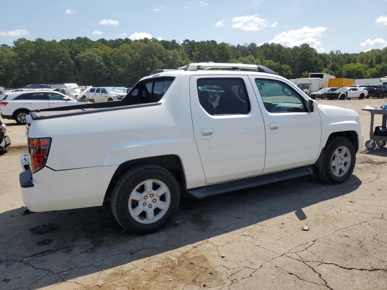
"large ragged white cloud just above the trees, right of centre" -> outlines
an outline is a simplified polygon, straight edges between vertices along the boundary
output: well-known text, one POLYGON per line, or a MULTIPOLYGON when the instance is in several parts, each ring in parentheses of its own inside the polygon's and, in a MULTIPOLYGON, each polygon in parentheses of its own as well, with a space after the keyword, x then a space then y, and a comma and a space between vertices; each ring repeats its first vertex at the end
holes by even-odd
POLYGON ((303 43, 307 43, 318 51, 322 51, 322 48, 318 48, 321 42, 316 38, 321 37, 322 33, 327 30, 327 27, 302 27, 301 29, 291 29, 284 31, 276 36, 269 43, 278 43, 283 46, 293 47, 303 43))

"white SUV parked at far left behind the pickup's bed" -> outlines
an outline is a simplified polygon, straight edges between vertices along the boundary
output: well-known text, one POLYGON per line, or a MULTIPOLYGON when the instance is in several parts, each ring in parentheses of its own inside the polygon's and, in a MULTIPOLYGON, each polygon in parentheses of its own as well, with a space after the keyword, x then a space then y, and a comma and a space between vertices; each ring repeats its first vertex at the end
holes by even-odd
POLYGON ((25 124, 26 116, 31 111, 78 104, 83 103, 49 90, 11 92, 0 102, 0 115, 4 119, 14 119, 19 124, 25 124))

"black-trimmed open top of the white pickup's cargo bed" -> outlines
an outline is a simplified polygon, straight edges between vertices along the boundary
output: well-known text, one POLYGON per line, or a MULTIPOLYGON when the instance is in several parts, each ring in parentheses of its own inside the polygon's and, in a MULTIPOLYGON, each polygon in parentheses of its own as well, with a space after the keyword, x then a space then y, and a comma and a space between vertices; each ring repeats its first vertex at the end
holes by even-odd
POLYGON ((31 116, 33 120, 41 120, 41 119, 52 119, 52 118, 60 118, 60 117, 66 117, 66 116, 75 116, 75 115, 82 115, 82 114, 115 111, 115 110, 122 110, 122 109, 132 109, 137 107, 158 106, 158 105, 161 105, 161 103, 128 105, 126 102, 122 102, 122 101, 100 102, 100 103, 81 104, 76 106, 36 110, 31 112, 31 116))

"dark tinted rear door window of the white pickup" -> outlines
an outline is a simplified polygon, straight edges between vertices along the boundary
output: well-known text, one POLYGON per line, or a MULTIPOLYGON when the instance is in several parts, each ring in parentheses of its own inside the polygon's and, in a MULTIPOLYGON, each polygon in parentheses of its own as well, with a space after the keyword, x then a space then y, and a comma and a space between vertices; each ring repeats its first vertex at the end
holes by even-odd
POLYGON ((197 80, 200 105, 211 115, 250 112, 246 88, 240 78, 202 78, 197 80))

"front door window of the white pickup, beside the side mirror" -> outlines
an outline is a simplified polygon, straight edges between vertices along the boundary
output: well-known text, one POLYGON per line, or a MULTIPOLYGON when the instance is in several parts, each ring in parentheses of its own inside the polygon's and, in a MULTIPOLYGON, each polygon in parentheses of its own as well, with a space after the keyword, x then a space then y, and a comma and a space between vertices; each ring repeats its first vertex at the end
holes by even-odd
POLYGON ((287 84, 260 78, 255 79, 255 84, 269 113, 306 112, 303 98, 287 84))

